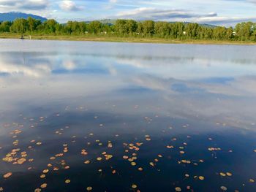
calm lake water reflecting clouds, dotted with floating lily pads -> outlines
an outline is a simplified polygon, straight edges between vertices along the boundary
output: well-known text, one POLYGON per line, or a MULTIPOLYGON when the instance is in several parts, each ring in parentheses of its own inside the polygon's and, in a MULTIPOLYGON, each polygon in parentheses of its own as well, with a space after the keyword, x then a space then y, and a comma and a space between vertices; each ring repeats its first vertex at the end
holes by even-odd
POLYGON ((0 191, 256 191, 255 53, 1 40, 0 191))

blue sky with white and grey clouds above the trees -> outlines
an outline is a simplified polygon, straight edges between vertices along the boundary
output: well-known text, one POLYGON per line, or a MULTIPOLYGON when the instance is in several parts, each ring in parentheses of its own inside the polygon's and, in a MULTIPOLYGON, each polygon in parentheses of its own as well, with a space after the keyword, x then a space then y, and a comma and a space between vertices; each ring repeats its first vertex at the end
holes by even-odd
POLYGON ((234 26, 256 22, 256 0, 0 0, 0 12, 67 20, 135 19, 234 26))

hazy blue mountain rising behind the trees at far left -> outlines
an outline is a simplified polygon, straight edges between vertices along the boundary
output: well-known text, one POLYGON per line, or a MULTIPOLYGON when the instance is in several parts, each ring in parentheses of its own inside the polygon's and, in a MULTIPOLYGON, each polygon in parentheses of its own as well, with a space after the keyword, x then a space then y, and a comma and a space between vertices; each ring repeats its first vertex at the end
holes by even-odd
POLYGON ((47 18, 42 18, 38 15, 32 15, 32 14, 26 14, 23 12, 4 12, 4 13, 0 13, 0 21, 5 21, 5 20, 10 20, 13 21, 17 18, 34 18, 37 20, 41 20, 42 22, 44 22, 45 20, 47 20, 47 18))

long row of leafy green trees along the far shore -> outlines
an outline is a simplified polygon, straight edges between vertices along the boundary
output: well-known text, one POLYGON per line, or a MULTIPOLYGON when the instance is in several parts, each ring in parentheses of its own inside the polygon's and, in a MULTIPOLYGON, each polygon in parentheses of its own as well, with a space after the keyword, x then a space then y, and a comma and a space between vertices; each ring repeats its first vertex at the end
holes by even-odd
POLYGON ((18 34, 54 34, 54 35, 108 35, 111 37, 158 37, 169 39, 211 39, 256 41, 256 23, 238 23, 235 28, 223 26, 204 26, 197 23, 167 23, 145 20, 116 20, 114 25, 92 22, 69 21, 65 24, 56 20, 42 23, 34 18, 19 18, 13 22, 0 24, 0 32, 18 34))

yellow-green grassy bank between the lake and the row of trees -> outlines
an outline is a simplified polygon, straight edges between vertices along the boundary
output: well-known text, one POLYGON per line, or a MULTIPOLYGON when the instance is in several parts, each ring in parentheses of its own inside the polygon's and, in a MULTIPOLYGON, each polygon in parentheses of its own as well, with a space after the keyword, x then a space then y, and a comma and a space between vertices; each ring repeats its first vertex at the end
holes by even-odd
MULTIPOLYGON (((20 39, 20 34, 0 34, 0 39, 20 39)), ((24 39, 30 39, 29 35, 24 35, 24 39)), ((68 35, 31 35, 31 39, 44 40, 67 40, 67 41, 93 41, 93 42, 141 42, 141 43, 165 43, 165 44, 200 44, 200 45, 256 45, 256 42, 244 41, 217 41, 217 40, 177 40, 161 39, 157 37, 107 37, 99 36, 68 36, 68 35)))

